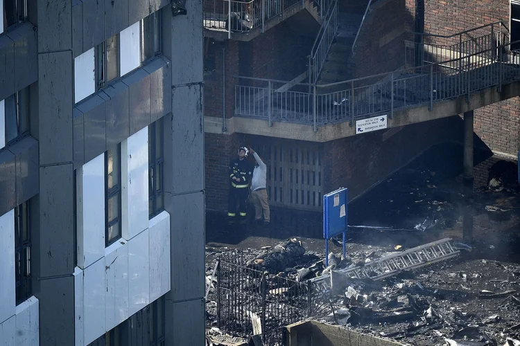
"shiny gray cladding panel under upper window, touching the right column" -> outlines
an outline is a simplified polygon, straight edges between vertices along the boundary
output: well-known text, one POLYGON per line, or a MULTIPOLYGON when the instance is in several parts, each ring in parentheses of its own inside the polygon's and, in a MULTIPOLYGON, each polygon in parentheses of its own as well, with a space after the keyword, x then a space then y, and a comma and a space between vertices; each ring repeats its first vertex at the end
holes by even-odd
POLYGON ((145 68, 150 73, 150 122, 171 112, 171 63, 160 58, 145 68))

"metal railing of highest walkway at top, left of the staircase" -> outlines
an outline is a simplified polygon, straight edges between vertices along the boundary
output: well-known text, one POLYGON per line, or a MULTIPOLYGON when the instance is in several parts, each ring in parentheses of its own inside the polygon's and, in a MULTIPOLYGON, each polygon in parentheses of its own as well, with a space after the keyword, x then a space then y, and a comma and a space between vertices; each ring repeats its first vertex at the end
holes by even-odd
POLYGON ((302 0, 204 0, 203 25, 225 31, 229 38, 232 32, 245 33, 259 27, 263 32, 266 21, 292 6, 303 5, 302 0))

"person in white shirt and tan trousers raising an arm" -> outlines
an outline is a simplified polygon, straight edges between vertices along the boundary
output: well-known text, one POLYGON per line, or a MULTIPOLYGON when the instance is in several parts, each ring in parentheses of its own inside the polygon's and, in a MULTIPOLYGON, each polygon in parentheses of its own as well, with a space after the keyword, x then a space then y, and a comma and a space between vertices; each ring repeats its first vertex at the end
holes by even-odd
POLYGON ((249 152, 253 154, 257 164, 254 166, 253 177, 251 179, 251 199, 254 204, 254 221, 261 223, 263 211, 263 224, 268 226, 271 223, 270 210, 267 198, 266 180, 267 180, 267 166, 261 160, 260 156, 253 149, 248 148, 249 152))

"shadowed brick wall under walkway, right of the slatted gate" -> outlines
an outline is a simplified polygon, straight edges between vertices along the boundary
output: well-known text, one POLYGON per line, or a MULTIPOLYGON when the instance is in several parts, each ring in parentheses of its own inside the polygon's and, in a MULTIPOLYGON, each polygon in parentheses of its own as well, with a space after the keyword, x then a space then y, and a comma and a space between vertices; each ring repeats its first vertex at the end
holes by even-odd
POLYGON ((462 119, 457 116, 325 143, 324 188, 347 186, 353 199, 428 147, 447 140, 462 140, 462 119))

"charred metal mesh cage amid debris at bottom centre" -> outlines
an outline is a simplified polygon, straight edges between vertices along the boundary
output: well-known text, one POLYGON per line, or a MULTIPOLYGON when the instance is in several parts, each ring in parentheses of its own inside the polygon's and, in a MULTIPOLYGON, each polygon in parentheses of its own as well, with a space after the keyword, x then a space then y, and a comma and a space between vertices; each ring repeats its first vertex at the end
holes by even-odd
POLYGON ((250 268, 243 251, 220 254, 216 268, 217 326, 228 334, 282 345, 284 327, 315 311, 314 284, 250 268))

